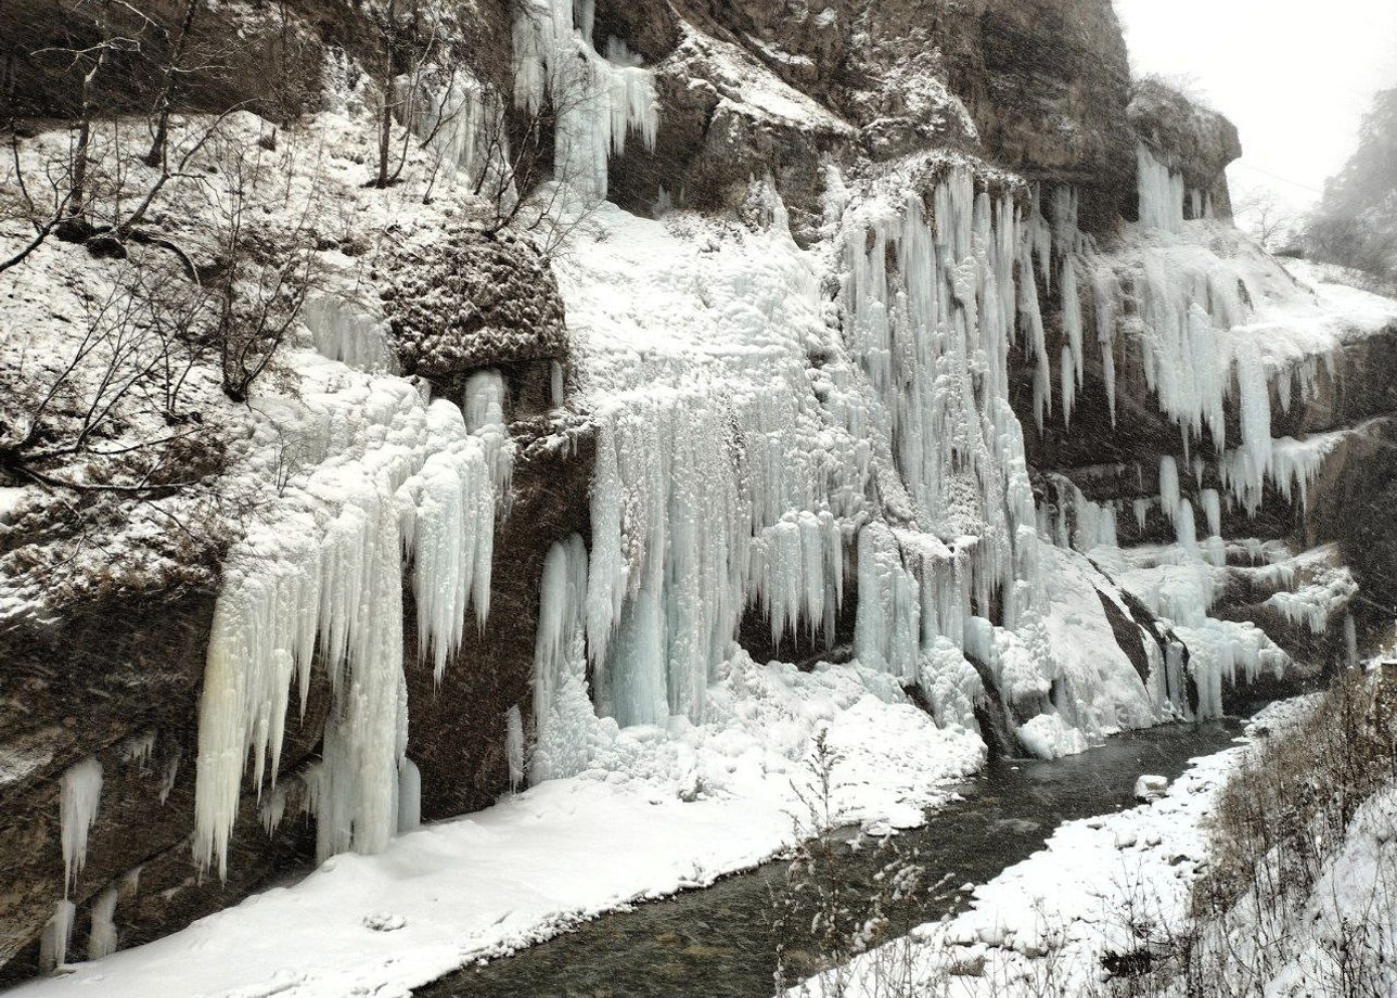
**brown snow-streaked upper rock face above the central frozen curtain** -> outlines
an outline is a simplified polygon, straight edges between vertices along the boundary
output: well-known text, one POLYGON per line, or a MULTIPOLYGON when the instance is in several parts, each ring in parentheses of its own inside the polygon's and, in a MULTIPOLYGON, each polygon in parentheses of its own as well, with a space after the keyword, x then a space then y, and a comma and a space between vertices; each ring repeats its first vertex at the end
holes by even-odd
MULTIPOLYGON (((803 219, 819 217, 821 158, 923 148, 978 152, 1028 179, 1077 185, 1091 231, 1133 193, 1129 68, 1109 3, 819 7, 685 4, 686 20, 708 34, 682 29, 673 48, 654 52, 662 152, 622 164, 617 200, 652 203, 664 185, 679 205, 732 208, 750 176, 770 173, 799 238, 803 219)), ((613 24, 606 8, 598 36, 613 24)), ((652 38, 673 36, 669 22, 658 10, 645 18, 652 38)))

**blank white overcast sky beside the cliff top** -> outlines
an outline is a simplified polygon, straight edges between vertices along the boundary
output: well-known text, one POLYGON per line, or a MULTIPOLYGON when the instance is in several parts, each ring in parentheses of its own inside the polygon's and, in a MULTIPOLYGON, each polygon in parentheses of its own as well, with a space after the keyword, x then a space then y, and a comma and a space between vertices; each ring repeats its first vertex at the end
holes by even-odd
POLYGON ((1397 0, 1115 0, 1136 73, 1186 77, 1242 133, 1235 187, 1298 205, 1397 85, 1397 0), (1280 179, 1282 178, 1282 179, 1280 179))

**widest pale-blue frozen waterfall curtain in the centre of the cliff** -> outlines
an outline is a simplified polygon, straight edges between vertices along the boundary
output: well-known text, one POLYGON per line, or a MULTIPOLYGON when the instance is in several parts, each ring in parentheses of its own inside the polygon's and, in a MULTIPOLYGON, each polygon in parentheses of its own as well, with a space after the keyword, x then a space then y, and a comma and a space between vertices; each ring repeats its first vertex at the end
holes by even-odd
MULTIPOLYGON (((1074 203, 1056 200, 1074 245, 1074 203)), ((921 685, 943 724, 972 728, 985 696, 1037 703, 1062 731, 1039 723, 1031 744, 1065 751, 1158 716, 1123 656, 1063 651, 1071 628, 1104 628, 1104 618, 1044 598, 1007 397, 1020 327, 1042 341, 1037 292, 1020 287, 1034 281, 1037 252, 1021 212, 964 165, 925 197, 895 182, 851 196, 833 214, 842 229, 835 326, 819 292, 827 264, 792 243, 770 187, 766 228, 712 264, 690 256, 682 233, 701 225, 693 217, 645 222, 604 208, 601 225, 616 235, 597 253, 576 247, 562 281, 570 316, 594 331, 598 456, 592 549, 555 548, 545 569, 535 780, 560 755, 585 758, 598 737, 578 696, 570 721, 545 721, 564 682, 583 688, 580 646, 602 720, 703 723, 749 608, 773 640, 828 642, 845 587, 859 595, 861 667, 921 685), (634 256, 612 260, 623 245, 634 256), (664 316, 665 338, 650 333, 651 316, 664 316), (979 616, 990 612, 995 623, 979 616), (1073 623, 1045 626, 1045 614, 1073 623), (560 635, 576 626, 585 640, 574 636, 569 658, 560 635), (571 742, 555 737, 564 728, 571 742)), ((1105 520, 1101 531, 1112 533, 1105 520)), ((1067 558, 1051 570, 1076 572, 1067 558)), ((1073 591, 1097 605, 1090 583, 1073 591)))

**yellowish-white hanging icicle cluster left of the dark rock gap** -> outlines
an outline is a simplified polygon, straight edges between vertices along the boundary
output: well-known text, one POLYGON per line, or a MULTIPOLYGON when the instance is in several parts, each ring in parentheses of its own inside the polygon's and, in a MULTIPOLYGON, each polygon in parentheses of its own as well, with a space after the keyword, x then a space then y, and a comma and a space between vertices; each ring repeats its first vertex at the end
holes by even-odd
POLYGON ((334 695, 313 786, 317 851, 376 851, 397 830, 405 552, 419 649, 437 675, 468 605, 478 621, 489 608, 495 489, 460 408, 425 405, 398 379, 346 387, 309 355, 300 369, 303 401, 267 400, 260 432, 319 463, 231 554, 208 646, 194 855, 221 875, 247 758, 254 784, 275 786, 291 688, 305 710, 316 657, 334 695))

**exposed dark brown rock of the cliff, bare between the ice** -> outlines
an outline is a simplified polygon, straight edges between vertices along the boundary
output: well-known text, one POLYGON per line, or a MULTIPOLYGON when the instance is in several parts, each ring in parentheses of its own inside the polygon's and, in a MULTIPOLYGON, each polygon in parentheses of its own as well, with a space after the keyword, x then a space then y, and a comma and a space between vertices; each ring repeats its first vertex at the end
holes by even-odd
MULTIPOLYGON (((175 7, 166 0, 152 11, 173 24, 175 7)), ((13 38, 21 49, 38 50, 64 24, 61 10, 47 0, 15 0, 0 13, 0 31, 22 24, 13 38)), ((362 6, 293 0, 277 17, 236 22, 231 11, 221 6, 198 27, 210 42, 240 39, 239 57, 221 75, 191 84, 210 106, 232 95, 291 119, 330 102, 346 82, 330 78, 332 67, 362 75, 374 59, 376 28, 362 6), (264 66, 279 74, 274 91, 260 74, 264 66)), ((478 75, 507 77, 503 1, 460 6, 448 34, 454 52, 493 53, 474 59, 478 75)), ((610 197, 637 214, 672 203, 746 219, 766 210, 753 201, 753 182, 770 176, 793 235, 810 245, 826 224, 827 198, 838 194, 828 166, 858 175, 909 152, 954 151, 1045 191, 1074 186, 1081 229, 1105 242, 1122 217, 1136 212, 1137 140, 1190 187, 1211 191, 1215 211, 1227 212, 1222 169, 1239 154, 1235 129, 1157 84, 1132 89, 1109 0, 598 0, 592 36, 602 50, 608 38, 624 41, 655 74, 655 150, 631 143, 612 159, 610 197)), ((112 80, 119 78, 113 70, 112 80)), ((24 113, 71 113, 71 89, 43 66, 25 63, 21 80, 24 113)), ((133 78, 129 85, 131 106, 145 106, 151 82, 133 78)), ((918 169, 935 172, 932 165, 918 169)), ((1027 207, 1027 194, 1020 200, 1027 207)), ((411 587, 405 590, 407 755, 422 773, 423 816, 443 818, 490 804, 518 779, 507 716, 520 709, 531 718, 545 555, 571 534, 590 537, 597 428, 580 411, 562 299, 534 245, 464 225, 430 236, 390 240, 372 264, 397 361, 432 394, 454 401, 464 398, 472 375, 499 372, 513 446, 510 499, 496 524, 492 612, 483 629, 467 628, 440 684, 419 654, 416 608, 411 587)), ((1220 252, 1249 250, 1238 240, 1220 252)), ((1060 295, 1060 288, 1045 288, 1045 316, 1059 314, 1060 295)), ((1090 305, 1085 314, 1092 327, 1090 305)), ((1069 331, 1052 317, 1046 340, 1052 356, 1070 345, 1069 331)), ((1296 496, 1271 489, 1260 517, 1229 510, 1224 519, 1228 535, 1285 538, 1298 549, 1337 544, 1343 562, 1384 605, 1397 604, 1397 541, 1387 526, 1397 502, 1393 358, 1397 328, 1344 345, 1333 369, 1317 376, 1316 391, 1295 405, 1274 400, 1275 437, 1351 431, 1316 479, 1308 513, 1296 496)), ((1106 401, 1106 358, 1094 337, 1083 366, 1070 431, 1049 421, 1044 432, 1028 433, 1039 502, 1053 502, 1060 481, 1097 502, 1129 506, 1157 496, 1160 458, 1186 467, 1192 451, 1151 398, 1139 342, 1112 355, 1115 411, 1106 401)), ((1034 376, 1021 344, 1010 358, 1010 377, 1025 428, 1035 422, 1034 376)), ((1231 440, 1239 421, 1229 403, 1231 440)), ((1185 493, 1196 500, 1203 488, 1222 486, 1211 458, 1201 481, 1185 478, 1185 493)), ((1123 540, 1140 542, 1169 540, 1173 530, 1160 510, 1139 528, 1126 520, 1120 526, 1123 540)), ((775 647, 754 612, 743 619, 742 646, 754 657, 847 653, 856 612, 856 593, 847 586, 833 647, 813 637, 775 647)), ((1236 587, 1224 612, 1264 622, 1296 657, 1343 656, 1343 636, 1308 635, 1263 605, 1271 594, 1236 587)), ((1097 595, 1122 650, 1148 677, 1164 654, 1165 628, 1139 601, 1097 595)), ((0 895, 0 963, 10 977, 38 967, 38 936, 56 899, 68 897, 85 916, 99 895, 117 892, 119 935, 131 945, 310 862, 313 833, 300 818, 306 784, 293 777, 321 748, 330 699, 323 667, 313 674, 303 717, 288 727, 285 793, 258 800, 251 779, 244 780, 229 879, 201 879, 193 865, 196 718, 215 598, 212 583, 123 593, 73 607, 59 621, 0 629, 0 876, 10 885, 0 895), (66 883, 56 846, 61 781, 88 759, 102 767, 101 805, 85 865, 66 883)), ((1376 623, 1379 611, 1366 612, 1376 623)), ((993 737, 1014 720, 985 716, 982 725, 993 737)), ((73 952, 85 952, 88 924, 78 918, 73 952)))

